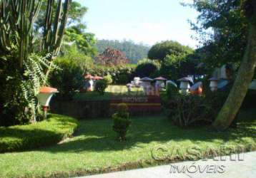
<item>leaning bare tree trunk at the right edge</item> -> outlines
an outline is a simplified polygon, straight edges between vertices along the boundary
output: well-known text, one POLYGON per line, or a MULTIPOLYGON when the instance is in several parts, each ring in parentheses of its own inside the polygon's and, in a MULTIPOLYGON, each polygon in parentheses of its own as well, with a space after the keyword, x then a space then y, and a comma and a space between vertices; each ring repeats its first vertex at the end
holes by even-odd
POLYGON ((256 25, 250 23, 247 48, 230 95, 220 110, 213 126, 225 130, 235 119, 252 81, 256 66, 256 25))

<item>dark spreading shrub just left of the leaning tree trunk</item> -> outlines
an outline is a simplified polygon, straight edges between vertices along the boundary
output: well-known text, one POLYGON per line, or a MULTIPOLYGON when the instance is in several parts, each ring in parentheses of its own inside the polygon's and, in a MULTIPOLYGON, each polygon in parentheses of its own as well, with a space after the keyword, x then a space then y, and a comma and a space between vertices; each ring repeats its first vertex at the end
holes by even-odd
POLYGON ((167 92, 162 93, 162 103, 165 114, 179 127, 195 125, 209 125, 217 116, 222 105, 232 88, 232 84, 226 90, 210 91, 209 82, 204 82, 204 94, 181 95, 173 85, 167 87, 167 92))

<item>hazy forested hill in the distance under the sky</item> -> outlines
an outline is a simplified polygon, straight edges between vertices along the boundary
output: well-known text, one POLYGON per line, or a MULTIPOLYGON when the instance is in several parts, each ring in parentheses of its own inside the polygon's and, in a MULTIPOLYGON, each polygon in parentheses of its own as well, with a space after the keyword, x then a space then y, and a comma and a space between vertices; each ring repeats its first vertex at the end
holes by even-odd
POLYGON ((139 59, 147 58, 150 46, 137 44, 133 41, 98 40, 96 43, 98 53, 103 53, 107 48, 115 48, 125 53, 130 63, 137 63, 139 59))

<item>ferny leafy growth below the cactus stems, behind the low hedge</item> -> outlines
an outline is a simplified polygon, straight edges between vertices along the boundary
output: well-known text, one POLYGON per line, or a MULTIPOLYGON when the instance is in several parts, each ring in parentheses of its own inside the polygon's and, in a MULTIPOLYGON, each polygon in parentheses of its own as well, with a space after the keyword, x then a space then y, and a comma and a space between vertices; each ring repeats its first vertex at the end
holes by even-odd
POLYGON ((19 125, 41 119, 41 108, 36 102, 36 95, 42 85, 47 85, 48 75, 45 70, 54 70, 56 66, 47 60, 31 54, 24 61, 24 71, 19 73, 9 58, 4 72, 1 73, 0 85, 1 112, 0 125, 19 125))

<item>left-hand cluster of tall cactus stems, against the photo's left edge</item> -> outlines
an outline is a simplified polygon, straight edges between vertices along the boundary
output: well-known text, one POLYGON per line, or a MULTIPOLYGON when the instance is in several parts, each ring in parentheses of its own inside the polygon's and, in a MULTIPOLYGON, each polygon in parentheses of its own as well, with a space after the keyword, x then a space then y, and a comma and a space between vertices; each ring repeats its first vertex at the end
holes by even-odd
POLYGON ((33 24, 41 9, 41 0, 0 1, 0 50, 9 54, 18 51, 20 68, 33 41, 33 24))

